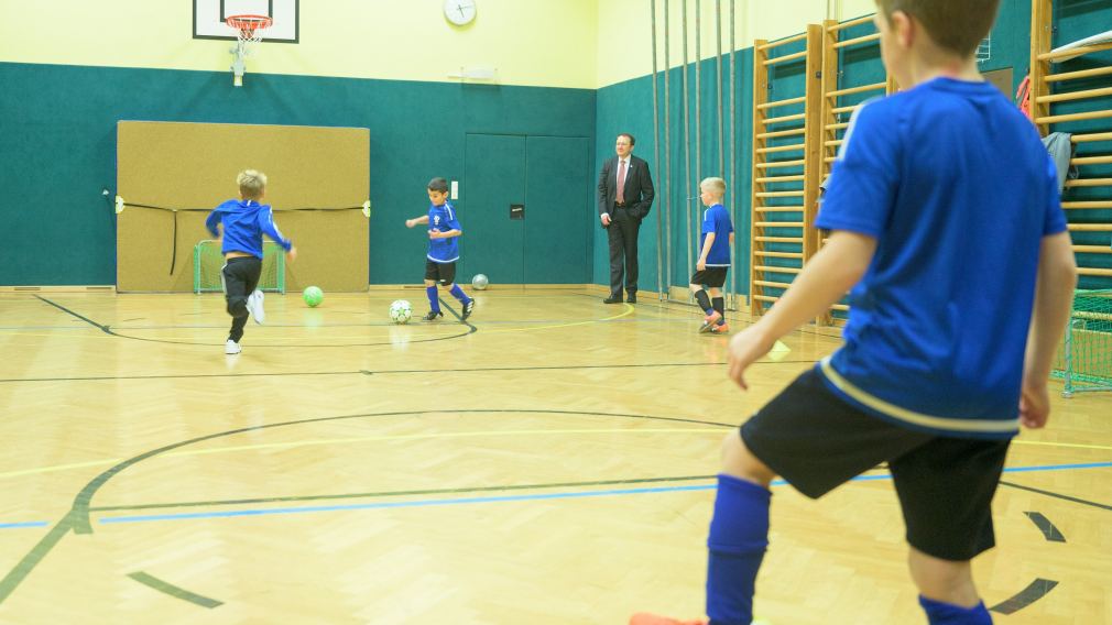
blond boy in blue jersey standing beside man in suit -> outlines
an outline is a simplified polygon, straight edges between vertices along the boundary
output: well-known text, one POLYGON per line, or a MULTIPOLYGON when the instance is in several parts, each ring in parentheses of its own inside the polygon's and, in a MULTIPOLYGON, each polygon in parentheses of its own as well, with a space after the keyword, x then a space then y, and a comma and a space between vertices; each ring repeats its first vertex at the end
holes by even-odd
POLYGON ((699 241, 698 262, 692 275, 691 289, 698 301, 699 308, 706 314, 699 333, 727 334, 725 299, 722 297, 722 286, 726 284, 726 271, 729 270, 729 246, 734 242, 734 225, 729 221, 729 212, 722 206, 726 195, 726 181, 722 178, 707 178, 699 182, 698 199, 707 207, 703 211, 703 228, 699 241), (711 289, 707 297, 703 286, 711 289))

